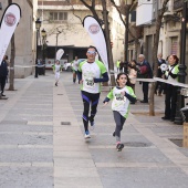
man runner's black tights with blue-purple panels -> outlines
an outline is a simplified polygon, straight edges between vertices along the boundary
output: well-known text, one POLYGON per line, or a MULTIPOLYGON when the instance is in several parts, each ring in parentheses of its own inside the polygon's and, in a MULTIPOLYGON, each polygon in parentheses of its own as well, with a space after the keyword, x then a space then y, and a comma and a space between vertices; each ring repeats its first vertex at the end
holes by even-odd
POLYGON ((88 121, 93 121, 96 115, 97 105, 100 101, 100 93, 87 93, 82 91, 81 94, 84 104, 84 112, 82 118, 86 132, 88 130, 88 121), (90 106, 91 106, 91 116, 88 117, 90 106))

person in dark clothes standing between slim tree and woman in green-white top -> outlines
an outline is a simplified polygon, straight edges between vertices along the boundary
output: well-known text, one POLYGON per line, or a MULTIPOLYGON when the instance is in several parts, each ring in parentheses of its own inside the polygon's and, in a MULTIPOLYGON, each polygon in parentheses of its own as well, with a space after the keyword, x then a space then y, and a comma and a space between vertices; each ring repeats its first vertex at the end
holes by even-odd
MULTIPOLYGON (((163 71, 161 71, 161 64, 166 64, 166 61, 163 59, 163 54, 159 53, 157 55, 158 62, 157 62, 157 77, 163 76, 163 71)), ((155 94, 157 94, 158 96, 161 96, 164 92, 164 83, 163 82, 157 82, 156 83, 156 88, 155 88, 155 94)))

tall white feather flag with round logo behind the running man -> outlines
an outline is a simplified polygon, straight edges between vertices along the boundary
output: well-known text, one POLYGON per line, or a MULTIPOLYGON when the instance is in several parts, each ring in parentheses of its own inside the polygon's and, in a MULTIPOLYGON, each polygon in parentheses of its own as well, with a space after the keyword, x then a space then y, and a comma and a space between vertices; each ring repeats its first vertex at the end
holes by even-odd
POLYGON ((87 33, 90 34, 95 48, 98 51, 98 54, 106 66, 108 72, 108 60, 107 60, 107 49, 106 49, 106 40, 103 33, 103 30, 100 23, 95 18, 87 15, 84 18, 83 25, 87 33))

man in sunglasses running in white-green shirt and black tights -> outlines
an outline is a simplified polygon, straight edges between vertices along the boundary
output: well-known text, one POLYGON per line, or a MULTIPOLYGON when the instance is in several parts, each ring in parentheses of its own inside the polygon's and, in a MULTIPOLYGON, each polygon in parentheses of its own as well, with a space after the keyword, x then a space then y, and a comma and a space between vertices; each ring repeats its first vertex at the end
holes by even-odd
POLYGON ((94 117, 97 111, 97 104, 101 93, 101 83, 108 82, 108 74, 105 65, 101 61, 95 61, 96 48, 88 46, 86 56, 87 60, 79 64, 77 77, 81 84, 81 95, 83 100, 83 124, 85 129, 85 138, 90 138, 88 122, 91 128, 94 128, 94 117), (91 105, 91 115, 90 113, 91 105))

